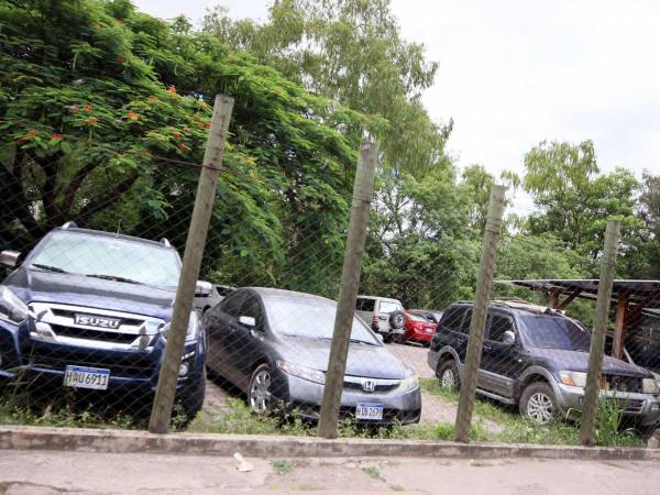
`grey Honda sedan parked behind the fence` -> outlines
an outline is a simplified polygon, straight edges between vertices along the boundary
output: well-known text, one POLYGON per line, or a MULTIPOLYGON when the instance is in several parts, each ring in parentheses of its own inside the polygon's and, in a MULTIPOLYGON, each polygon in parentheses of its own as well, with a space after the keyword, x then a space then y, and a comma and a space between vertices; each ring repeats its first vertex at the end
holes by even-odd
MULTIPOLYGON (((210 371, 248 396, 257 411, 320 413, 337 302, 275 288, 239 288, 206 312, 210 371)), ((353 318, 340 414, 367 424, 418 422, 415 374, 353 318)))

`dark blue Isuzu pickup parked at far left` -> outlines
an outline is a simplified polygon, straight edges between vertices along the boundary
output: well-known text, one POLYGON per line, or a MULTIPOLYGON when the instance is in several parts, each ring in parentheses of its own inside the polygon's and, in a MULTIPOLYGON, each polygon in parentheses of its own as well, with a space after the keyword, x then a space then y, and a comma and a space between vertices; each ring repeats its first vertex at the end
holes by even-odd
MULTIPOLYGON (((151 409, 182 266, 167 241, 69 222, 25 256, 3 251, 0 263, 11 270, 0 285, 2 382, 94 391, 128 413, 151 409)), ((177 383, 188 418, 204 403, 205 358, 193 311, 177 383)))

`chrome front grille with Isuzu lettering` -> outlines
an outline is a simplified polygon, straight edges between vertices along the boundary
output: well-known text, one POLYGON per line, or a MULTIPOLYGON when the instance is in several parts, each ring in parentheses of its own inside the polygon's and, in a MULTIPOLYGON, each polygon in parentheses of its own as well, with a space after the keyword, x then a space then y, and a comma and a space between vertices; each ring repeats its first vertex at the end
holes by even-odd
POLYGON ((36 316, 32 340, 87 349, 151 350, 165 324, 158 318, 80 306, 31 302, 30 308, 36 316))

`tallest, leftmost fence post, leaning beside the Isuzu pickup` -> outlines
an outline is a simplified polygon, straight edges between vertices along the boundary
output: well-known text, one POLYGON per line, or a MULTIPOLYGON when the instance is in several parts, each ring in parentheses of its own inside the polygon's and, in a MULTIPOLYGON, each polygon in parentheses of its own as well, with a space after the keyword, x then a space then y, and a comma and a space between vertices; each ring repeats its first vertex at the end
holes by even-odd
POLYGON ((179 277, 176 299, 172 315, 167 345, 161 364, 156 397, 152 408, 148 431, 152 433, 166 433, 172 419, 172 407, 176 396, 176 383, 182 363, 182 354, 186 340, 186 332, 193 310, 195 286, 199 277, 201 256, 206 244, 207 231, 216 199, 216 185, 218 173, 222 165, 224 143, 229 132, 229 121, 233 108, 233 99, 217 95, 211 117, 211 129, 207 140, 204 164, 199 174, 195 208, 188 229, 186 252, 179 277))

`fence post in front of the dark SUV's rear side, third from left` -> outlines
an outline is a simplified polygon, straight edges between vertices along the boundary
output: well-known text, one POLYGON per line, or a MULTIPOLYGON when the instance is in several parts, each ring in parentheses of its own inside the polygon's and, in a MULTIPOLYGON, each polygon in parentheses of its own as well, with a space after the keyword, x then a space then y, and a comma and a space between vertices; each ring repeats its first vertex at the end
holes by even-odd
POLYGON ((466 443, 470 437, 476 378, 481 365, 484 332, 488 316, 488 301, 493 287, 493 276, 495 274, 497 241, 502 228, 502 216, 504 215, 505 193, 506 187, 501 185, 494 185, 491 190, 488 218, 486 219, 476 292, 474 294, 474 309, 470 322, 470 340, 465 355, 465 367, 461 377, 461 395, 454 429, 454 440, 458 442, 466 443))

